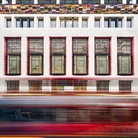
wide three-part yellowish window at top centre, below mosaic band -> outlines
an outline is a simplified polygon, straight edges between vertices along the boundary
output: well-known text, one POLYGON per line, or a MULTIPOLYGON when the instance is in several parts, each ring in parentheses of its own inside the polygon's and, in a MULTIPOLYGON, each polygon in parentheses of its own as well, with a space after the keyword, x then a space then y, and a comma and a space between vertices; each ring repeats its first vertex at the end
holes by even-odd
POLYGON ((75 17, 60 18, 60 27, 61 28, 77 28, 78 18, 75 18, 75 17))

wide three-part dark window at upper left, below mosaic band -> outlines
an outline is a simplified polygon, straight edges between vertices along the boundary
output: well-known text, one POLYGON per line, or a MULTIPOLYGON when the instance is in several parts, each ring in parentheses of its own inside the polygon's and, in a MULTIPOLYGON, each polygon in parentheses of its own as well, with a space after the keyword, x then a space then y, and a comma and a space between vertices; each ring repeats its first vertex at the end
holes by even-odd
POLYGON ((34 18, 16 18, 16 27, 17 28, 33 28, 34 27, 34 18))

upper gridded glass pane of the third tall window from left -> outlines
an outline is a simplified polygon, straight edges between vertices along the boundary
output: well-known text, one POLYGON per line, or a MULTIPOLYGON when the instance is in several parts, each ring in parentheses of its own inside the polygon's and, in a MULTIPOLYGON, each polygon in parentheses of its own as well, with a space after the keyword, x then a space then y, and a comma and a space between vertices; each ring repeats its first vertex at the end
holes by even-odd
POLYGON ((51 38, 51 52, 52 54, 65 53, 65 39, 64 38, 51 38))

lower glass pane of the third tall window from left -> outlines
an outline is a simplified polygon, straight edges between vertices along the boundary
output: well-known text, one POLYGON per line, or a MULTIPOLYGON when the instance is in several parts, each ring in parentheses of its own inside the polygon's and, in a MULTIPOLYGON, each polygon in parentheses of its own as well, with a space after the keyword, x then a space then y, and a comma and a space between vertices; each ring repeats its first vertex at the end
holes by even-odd
POLYGON ((52 55, 52 74, 64 74, 64 56, 52 55))

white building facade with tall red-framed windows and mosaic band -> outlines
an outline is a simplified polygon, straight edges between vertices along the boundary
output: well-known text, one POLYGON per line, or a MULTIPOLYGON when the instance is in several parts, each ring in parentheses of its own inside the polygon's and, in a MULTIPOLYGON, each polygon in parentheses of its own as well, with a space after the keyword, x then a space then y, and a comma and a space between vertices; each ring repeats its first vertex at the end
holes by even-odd
POLYGON ((0 92, 137 93, 138 1, 1 1, 0 92))

